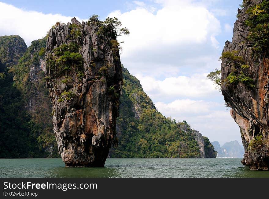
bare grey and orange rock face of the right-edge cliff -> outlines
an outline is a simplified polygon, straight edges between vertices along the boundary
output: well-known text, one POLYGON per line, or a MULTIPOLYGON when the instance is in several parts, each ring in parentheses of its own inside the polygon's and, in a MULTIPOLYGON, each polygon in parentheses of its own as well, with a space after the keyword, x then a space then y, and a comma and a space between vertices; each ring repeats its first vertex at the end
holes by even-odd
MULTIPOLYGON (((268 170, 269 168, 269 140, 268 140, 268 86, 269 86, 269 59, 260 56, 252 56, 252 44, 247 40, 249 27, 244 25, 248 15, 246 9, 261 0, 244 2, 244 9, 238 9, 238 20, 234 24, 232 42, 227 41, 223 51, 237 50, 250 66, 247 69, 249 76, 254 80, 255 87, 249 88, 243 83, 238 85, 223 84, 222 93, 224 100, 232 108, 231 116, 240 127, 242 143, 245 148, 242 164, 249 165, 252 170, 268 170), (249 147, 258 135, 261 145, 256 148, 249 147)), ((223 60, 221 65, 222 80, 232 72, 229 61, 223 60)))

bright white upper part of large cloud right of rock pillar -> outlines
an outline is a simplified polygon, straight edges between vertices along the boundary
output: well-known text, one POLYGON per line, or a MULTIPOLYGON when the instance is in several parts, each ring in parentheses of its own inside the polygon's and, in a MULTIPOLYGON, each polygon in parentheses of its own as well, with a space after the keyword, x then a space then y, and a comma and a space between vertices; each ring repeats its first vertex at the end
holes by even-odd
POLYGON ((220 23, 203 7, 164 7, 157 14, 144 8, 130 12, 114 11, 109 16, 116 16, 130 30, 129 36, 119 39, 128 45, 124 54, 129 51, 164 46, 201 44, 210 41, 219 33, 220 23))

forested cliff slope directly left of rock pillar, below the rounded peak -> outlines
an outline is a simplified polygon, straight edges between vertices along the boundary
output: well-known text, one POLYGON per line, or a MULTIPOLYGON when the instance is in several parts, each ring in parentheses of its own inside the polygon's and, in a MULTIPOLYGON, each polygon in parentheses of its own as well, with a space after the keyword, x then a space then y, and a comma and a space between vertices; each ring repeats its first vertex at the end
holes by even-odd
MULTIPOLYGON (((20 48, 21 42, 18 44, 9 43, 14 49, 20 48)), ((9 58, 12 62, 5 72, 5 79, 0 80, 0 146, 3 148, 0 157, 58 157, 51 103, 45 75, 40 68, 42 54, 39 52, 44 47, 45 38, 35 40, 25 53, 16 56, 17 62, 9 58)))

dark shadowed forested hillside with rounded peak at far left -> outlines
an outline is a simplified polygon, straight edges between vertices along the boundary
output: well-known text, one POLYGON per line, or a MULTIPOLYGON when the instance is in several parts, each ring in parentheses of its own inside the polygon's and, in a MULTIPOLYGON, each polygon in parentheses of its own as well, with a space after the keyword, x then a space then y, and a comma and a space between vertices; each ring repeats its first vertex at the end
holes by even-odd
POLYGON ((31 116, 24 97, 14 85, 12 67, 26 50, 19 36, 0 37, 0 157, 40 157, 43 150, 31 133, 31 116))

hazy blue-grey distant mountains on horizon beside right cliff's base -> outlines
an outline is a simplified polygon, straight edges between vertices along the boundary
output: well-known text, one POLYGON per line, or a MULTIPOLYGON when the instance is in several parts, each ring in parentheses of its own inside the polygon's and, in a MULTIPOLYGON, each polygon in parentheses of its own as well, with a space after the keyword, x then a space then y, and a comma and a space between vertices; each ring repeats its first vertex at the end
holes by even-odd
POLYGON ((214 141, 211 144, 218 152, 217 157, 243 158, 244 156, 244 149, 236 140, 226 142, 222 147, 220 147, 219 142, 217 141, 214 141))

